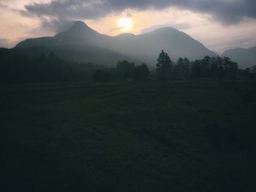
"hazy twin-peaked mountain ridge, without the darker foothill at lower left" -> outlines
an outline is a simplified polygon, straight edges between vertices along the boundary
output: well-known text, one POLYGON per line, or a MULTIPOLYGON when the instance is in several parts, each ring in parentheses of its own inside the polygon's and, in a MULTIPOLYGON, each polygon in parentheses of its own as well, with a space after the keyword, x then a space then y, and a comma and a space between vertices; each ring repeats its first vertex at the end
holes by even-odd
MULTIPOLYGON (((113 51, 125 58, 133 58, 154 66, 160 50, 165 50, 176 61, 179 57, 190 60, 203 58, 205 55, 216 56, 202 43, 184 32, 173 27, 158 28, 145 34, 119 34, 110 37, 90 28, 82 21, 76 21, 67 31, 56 34, 54 37, 40 37, 26 39, 15 48, 22 47, 53 47, 53 46, 85 45, 101 47, 113 51)), ((109 55, 111 57, 111 54, 109 55)), ((86 57, 88 58, 88 57, 86 57)), ((83 59, 82 59, 83 60, 83 59)), ((93 62, 93 61, 91 61, 93 62)), ((117 61, 113 61, 116 64, 117 61)))

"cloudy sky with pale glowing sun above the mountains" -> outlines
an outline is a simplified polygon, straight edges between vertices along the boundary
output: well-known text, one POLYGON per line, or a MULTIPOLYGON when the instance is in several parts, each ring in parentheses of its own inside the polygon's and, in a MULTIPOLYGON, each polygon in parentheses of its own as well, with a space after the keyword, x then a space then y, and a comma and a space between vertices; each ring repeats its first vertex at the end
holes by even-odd
POLYGON ((172 26, 216 53, 256 46, 255 0, 0 0, 0 47, 53 36, 73 20, 101 34, 172 26))

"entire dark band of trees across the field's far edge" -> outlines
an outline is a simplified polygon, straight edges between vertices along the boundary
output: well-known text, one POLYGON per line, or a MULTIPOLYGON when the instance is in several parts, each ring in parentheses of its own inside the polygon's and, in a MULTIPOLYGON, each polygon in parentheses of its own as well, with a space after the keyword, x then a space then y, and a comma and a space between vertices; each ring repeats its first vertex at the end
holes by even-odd
POLYGON ((230 58, 206 56, 189 61, 178 58, 175 63, 163 50, 157 58, 156 71, 150 72, 146 64, 135 65, 118 61, 115 67, 64 61, 54 53, 29 59, 16 50, 0 49, 0 82, 111 82, 143 80, 200 80, 200 79, 256 80, 256 66, 238 69, 230 58))

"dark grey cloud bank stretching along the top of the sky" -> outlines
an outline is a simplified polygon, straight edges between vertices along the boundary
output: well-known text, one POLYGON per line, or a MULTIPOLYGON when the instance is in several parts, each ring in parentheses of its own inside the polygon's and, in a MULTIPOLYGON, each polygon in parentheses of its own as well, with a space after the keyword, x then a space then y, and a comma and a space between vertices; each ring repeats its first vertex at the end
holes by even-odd
POLYGON ((164 9, 177 7, 208 13, 221 23, 238 23, 244 17, 256 18, 255 0, 53 0, 48 4, 25 6, 23 14, 69 19, 97 19, 125 9, 164 9))

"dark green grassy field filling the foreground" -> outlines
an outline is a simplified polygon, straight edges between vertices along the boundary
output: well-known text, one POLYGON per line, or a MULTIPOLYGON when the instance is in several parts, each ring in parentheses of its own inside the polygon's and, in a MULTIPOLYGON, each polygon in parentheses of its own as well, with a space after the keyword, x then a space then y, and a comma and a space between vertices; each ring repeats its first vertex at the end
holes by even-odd
POLYGON ((0 191, 255 191, 253 82, 1 85, 0 191))

